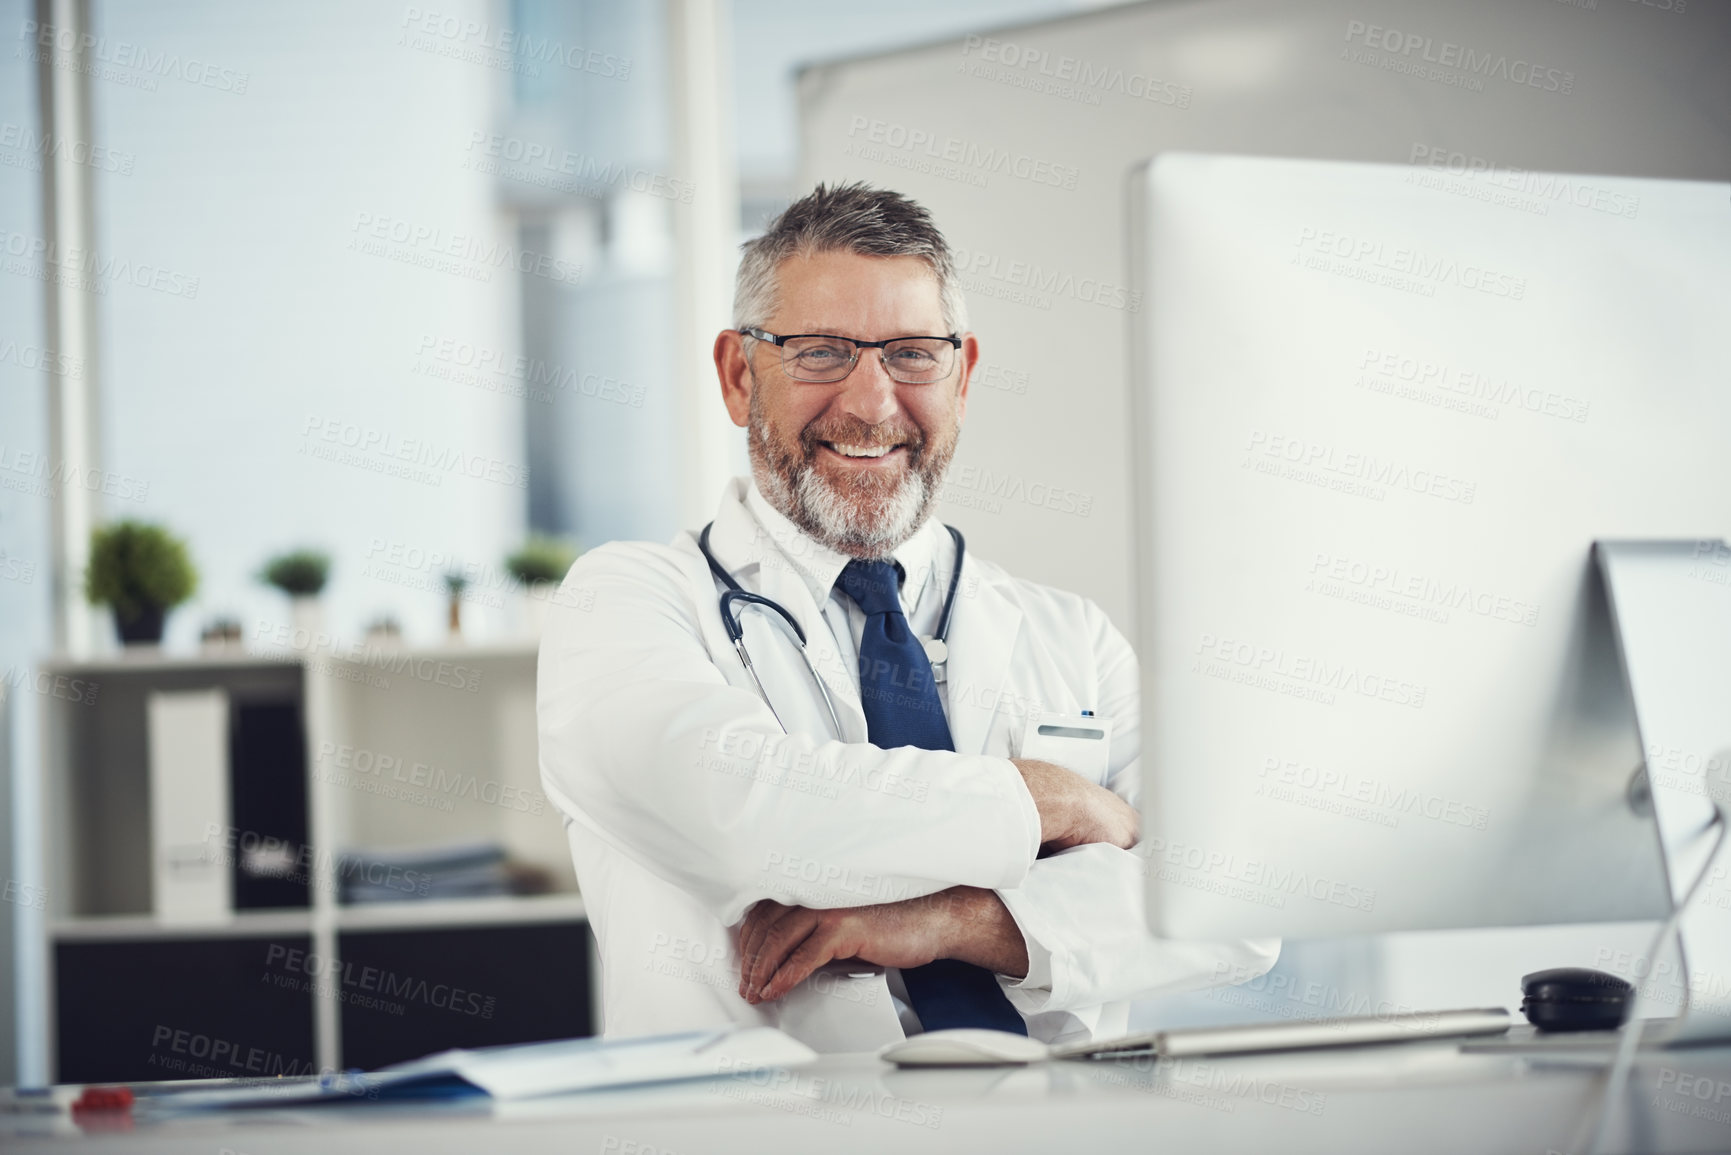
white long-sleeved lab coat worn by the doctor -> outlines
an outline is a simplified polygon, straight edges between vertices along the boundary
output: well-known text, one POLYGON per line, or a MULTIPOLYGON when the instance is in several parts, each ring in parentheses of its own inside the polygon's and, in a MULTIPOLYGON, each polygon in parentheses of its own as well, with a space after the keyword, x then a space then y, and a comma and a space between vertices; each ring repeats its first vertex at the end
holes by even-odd
MULTIPOLYGON (((840 907, 995 890, 1030 961, 1026 978, 999 982, 1044 1041, 1113 1037, 1134 997, 1274 965, 1276 940, 1151 939, 1136 852, 1096 843, 1035 857, 1039 814, 1007 760, 1030 712, 1111 719, 1103 784, 1137 795, 1136 655, 1097 606, 969 552, 949 634, 956 753, 879 750, 866 741, 852 639, 843 656, 795 561, 824 547, 760 497, 748 504, 748 485, 727 487, 710 547, 800 622, 841 739, 791 632, 750 610, 746 646, 782 734, 727 639, 691 533, 585 554, 542 637, 542 783, 566 817, 601 947, 608 1036, 763 1023, 819 1051, 904 1037, 881 973, 831 968, 777 1003, 741 999, 732 928, 758 899, 840 907)), ((933 556, 952 556, 942 526, 921 533, 938 537, 933 556)))

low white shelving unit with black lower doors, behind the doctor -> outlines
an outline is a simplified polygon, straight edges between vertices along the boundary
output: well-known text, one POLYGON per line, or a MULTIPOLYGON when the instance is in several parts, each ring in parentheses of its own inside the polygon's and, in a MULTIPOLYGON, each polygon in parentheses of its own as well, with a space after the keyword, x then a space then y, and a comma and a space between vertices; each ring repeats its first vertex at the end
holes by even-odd
MULTIPOLYGON (((61 1044, 69 1042, 59 1032, 90 1025, 78 1008, 102 997, 90 984, 111 971, 128 997, 140 1001, 140 1015, 161 1003, 161 1015, 180 1008, 175 1013, 187 1022, 177 1022, 177 1029, 237 1041, 248 1039, 254 1027, 265 1030, 263 1016, 275 1013, 272 1006, 280 1010, 293 984, 317 987, 329 984, 331 973, 348 973, 344 949, 389 954, 409 949, 405 944, 436 944, 422 947, 428 954, 412 970, 434 987, 441 970, 466 973, 469 982, 485 980, 488 990, 500 992, 531 990, 538 982, 531 971, 545 971, 549 965, 550 973, 561 973, 557 959, 493 947, 493 939, 504 942, 500 935, 542 935, 545 944, 580 944, 587 935, 564 828, 540 791, 535 661, 537 646, 530 641, 339 644, 306 653, 209 649, 185 656, 144 649, 87 661, 43 661, 43 674, 80 681, 78 694, 71 689, 42 694, 40 705, 38 774, 48 859, 42 874, 48 894, 43 949, 54 1008, 48 1027, 54 1070, 61 1044), (97 693, 88 693, 92 686, 97 693), (298 710, 306 755, 310 854, 298 859, 306 906, 239 909, 213 921, 164 921, 154 913, 147 701, 158 691, 199 689, 222 689, 234 703, 293 703, 298 710), (552 892, 341 902, 338 862, 346 852, 393 854, 474 842, 502 845, 512 862, 544 873, 552 892), (284 954, 296 942, 299 947, 284 954), (177 958, 185 959, 183 966, 173 965, 177 958), (258 970, 223 970, 232 959, 258 970), (336 970, 293 971, 312 961, 336 970), (69 970, 62 975, 64 968, 69 970), (145 982, 145 973, 154 977, 145 982), (73 985, 55 994, 62 980, 73 985), (201 984, 216 997, 196 997, 201 984)), ((232 854, 234 840, 246 831, 225 833, 232 854)), ((576 982, 583 997, 590 997, 589 951, 575 954, 566 982, 576 982)), ((448 1025, 431 1013, 424 1022, 384 1023, 343 997, 308 997, 305 990, 296 997, 303 999, 296 1006, 305 1004, 313 1020, 306 1037, 313 1048, 308 1058, 317 1067, 348 1065, 346 1055, 369 1053, 365 1048, 377 1042, 369 1034, 344 1046, 344 1030, 396 1032, 403 1037, 393 1046, 419 1046, 448 1025)), ((414 1020, 421 1011, 410 1006, 407 1013, 414 1020)), ((561 1020, 563 1029, 583 1022, 590 1022, 589 1011, 571 1008, 561 1020)), ((154 1032, 158 1020, 149 1025, 154 1032)), ((485 1034, 500 1029, 490 1020, 485 1030, 479 1023, 457 1025, 481 1030, 460 1036, 469 1042, 509 1041, 485 1034)), ((104 1048, 118 1056, 116 1063, 126 1058, 137 1065, 152 1046, 149 1034, 116 1037, 93 1051, 83 1046, 88 1039, 76 1042, 83 1055, 78 1061, 97 1065, 104 1061, 104 1048)))

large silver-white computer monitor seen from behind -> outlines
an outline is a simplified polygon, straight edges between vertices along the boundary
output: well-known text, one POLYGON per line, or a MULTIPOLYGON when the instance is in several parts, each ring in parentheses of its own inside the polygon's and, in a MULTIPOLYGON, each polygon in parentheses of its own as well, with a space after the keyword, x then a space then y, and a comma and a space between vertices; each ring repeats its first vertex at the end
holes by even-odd
MULTIPOLYGON (((1155 933, 1667 914, 1632 779, 1731 802, 1731 748, 1638 736, 1593 544, 1698 540, 1688 575, 1731 599, 1728 192, 1201 154, 1134 175, 1155 933)), ((1731 670, 1731 641, 1703 648, 1731 670)))

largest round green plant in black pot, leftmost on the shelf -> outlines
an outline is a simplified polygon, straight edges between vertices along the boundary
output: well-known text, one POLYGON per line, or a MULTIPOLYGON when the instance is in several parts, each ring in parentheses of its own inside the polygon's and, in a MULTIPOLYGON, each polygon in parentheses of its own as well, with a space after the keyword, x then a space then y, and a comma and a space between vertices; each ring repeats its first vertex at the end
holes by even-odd
POLYGON ((197 585, 185 542, 163 526, 114 521, 92 530, 85 597, 114 610, 121 642, 159 644, 168 611, 192 597, 197 585))

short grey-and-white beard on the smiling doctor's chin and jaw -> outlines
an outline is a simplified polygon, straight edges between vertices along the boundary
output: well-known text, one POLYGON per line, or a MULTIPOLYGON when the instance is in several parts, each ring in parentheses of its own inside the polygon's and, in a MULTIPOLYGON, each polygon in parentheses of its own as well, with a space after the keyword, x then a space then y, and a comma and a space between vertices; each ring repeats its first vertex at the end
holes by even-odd
POLYGON ((803 431, 803 457, 770 438, 769 419, 758 400, 762 395, 753 379, 748 436, 751 478, 777 513, 829 549, 866 561, 890 556, 926 525, 956 455, 954 440, 949 445, 926 442, 893 490, 864 494, 866 500, 860 500, 860 495, 843 494, 819 473, 812 464, 815 448, 807 445, 803 431))

